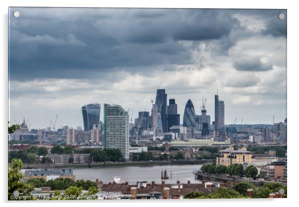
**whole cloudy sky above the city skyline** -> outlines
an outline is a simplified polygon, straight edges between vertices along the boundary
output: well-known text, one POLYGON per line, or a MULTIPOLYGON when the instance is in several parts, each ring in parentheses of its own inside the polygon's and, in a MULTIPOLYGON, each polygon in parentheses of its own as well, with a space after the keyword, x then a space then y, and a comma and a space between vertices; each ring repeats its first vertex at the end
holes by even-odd
POLYGON ((11 8, 10 120, 45 128, 59 114, 56 128, 83 127, 86 103, 120 104, 134 120, 166 89, 181 123, 188 99, 200 114, 203 98, 213 121, 217 90, 226 124, 283 121, 286 17, 259 9, 11 8))

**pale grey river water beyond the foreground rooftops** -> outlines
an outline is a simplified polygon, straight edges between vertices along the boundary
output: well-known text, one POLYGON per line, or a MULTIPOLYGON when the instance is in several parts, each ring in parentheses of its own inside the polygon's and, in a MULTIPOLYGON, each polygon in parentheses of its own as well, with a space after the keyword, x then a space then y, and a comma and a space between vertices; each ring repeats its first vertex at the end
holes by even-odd
MULTIPOLYGON (((104 184, 112 182, 114 176, 119 176, 121 182, 129 182, 129 184, 136 184, 137 181, 154 181, 157 184, 161 183, 161 170, 167 170, 167 174, 172 171, 194 171, 199 170, 202 164, 196 165, 154 165, 154 166, 115 166, 115 167, 97 167, 97 168, 84 168, 74 169, 76 180, 84 179, 95 181, 103 181, 104 184)), ((201 183, 200 180, 194 179, 194 174, 173 175, 172 179, 166 179, 165 183, 174 184, 179 180, 181 183, 201 183)))

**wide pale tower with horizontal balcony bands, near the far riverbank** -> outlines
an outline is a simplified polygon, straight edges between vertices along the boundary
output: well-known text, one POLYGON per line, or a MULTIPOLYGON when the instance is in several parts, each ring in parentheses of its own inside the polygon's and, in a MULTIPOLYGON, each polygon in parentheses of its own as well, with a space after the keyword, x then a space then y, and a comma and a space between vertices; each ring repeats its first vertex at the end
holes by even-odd
POLYGON ((129 114, 120 105, 104 104, 104 149, 119 149, 129 160, 129 114))

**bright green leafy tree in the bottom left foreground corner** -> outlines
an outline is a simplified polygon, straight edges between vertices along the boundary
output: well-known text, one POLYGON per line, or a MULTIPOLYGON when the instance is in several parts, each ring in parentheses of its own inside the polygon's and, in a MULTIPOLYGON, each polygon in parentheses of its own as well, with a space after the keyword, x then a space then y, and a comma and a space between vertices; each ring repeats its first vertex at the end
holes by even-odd
POLYGON ((20 171, 22 168, 20 159, 12 159, 8 168, 8 200, 21 200, 20 197, 14 198, 13 192, 19 192, 19 196, 23 196, 22 200, 32 200, 30 192, 34 187, 22 181, 23 175, 20 171))

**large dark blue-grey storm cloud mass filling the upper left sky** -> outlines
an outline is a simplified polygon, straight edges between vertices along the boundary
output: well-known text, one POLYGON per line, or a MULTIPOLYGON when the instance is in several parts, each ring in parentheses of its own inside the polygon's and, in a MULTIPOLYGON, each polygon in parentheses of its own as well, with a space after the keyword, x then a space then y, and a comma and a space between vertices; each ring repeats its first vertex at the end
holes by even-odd
POLYGON ((181 40, 221 40, 238 24, 229 12, 207 9, 72 11, 21 8, 20 18, 11 19, 11 79, 77 78, 78 70, 88 76, 189 64, 192 54, 181 40))

